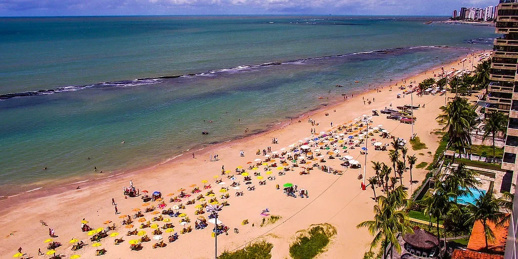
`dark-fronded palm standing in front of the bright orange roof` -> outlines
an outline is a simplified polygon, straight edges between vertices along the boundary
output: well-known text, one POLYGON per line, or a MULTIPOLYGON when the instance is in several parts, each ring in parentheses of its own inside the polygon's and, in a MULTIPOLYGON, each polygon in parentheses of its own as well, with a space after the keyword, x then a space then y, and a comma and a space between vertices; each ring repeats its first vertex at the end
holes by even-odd
POLYGON ((471 225, 476 221, 482 223, 487 250, 489 247, 487 241, 493 242, 495 240, 493 229, 487 225, 487 222, 498 224, 503 219, 504 214, 500 212, 500 201, 495 199, 492 192, 481 195, 474 202, 474 204, 468 204, 467 206, 469 218, 466 224, 471 225))

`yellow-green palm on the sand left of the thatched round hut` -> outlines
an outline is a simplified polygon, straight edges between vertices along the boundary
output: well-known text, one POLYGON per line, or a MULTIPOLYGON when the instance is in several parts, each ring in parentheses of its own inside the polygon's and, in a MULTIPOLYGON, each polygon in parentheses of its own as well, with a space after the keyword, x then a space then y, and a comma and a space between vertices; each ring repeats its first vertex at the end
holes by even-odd
POLYGON ((407 192, 401 186, 387 196, 379 196, 378 204, 374 206, 374 219, 359 223, 356 227, 367 227, 369 233, 374 236, 370 243, 370 249, 377 248, 381 244, 383 251, 382 258, 386 258, 386 248, 389 243, 394 245, 398 253, 401 252, 401 246, 397 241, 397 233, 401 235, 412 233, 412 228, 408 226, 408 215, 404 210, 407 192))

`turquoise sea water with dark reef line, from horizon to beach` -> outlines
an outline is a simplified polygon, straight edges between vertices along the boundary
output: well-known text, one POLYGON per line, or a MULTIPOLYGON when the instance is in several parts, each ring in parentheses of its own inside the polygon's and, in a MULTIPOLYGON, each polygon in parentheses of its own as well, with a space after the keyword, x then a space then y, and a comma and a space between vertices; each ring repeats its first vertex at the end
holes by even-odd
POLYGON ((0 100, 0 196, 264 131, 496 36, 429 20, 442 18, 0 18, 0 96, 54 90, 0 100))

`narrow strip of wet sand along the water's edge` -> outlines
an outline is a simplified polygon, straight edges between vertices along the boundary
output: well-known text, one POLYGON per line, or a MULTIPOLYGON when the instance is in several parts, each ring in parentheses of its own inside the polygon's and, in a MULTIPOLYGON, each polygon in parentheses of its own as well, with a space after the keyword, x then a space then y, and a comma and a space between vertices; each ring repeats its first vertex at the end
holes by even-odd
MULTIPOLYGON (((431 46, 431 47, 440 47, 440 46, 431 46)), ((415 47, 413 47, 413 48, 415 48, 415 47)), ((427 48, 429 48, 429 47, 427 47, 427 48)), ((378 50, 378 51, 381 51, 381 50, 378 50)), ((482 53, 482 51, 483 50, 481 50, 481 49, 475 49, 474 52, 472 52, 472 53, 479 54, 479 53, 482 53)), ((454 59, 453 61, 458 61, 458 59, 454 59)), ((416 74, 412 74, 412 75, 405 76, 406 73, 404 73, 401 75, 401 78, 394 79, 392 82, 386 82, 386 83, 380 84, 380 85, 377 84, 377 86, 373 86, 373 87, 369 87, 369 86, 365 85, 363 87, 363 91, 358 91, 358 90, 354 91, 353 90, 350 93, 354 94, 358 98, 363 97, 363 96, 366 96, 368 94, 375 92, 376 91, 375 89, 378 87, 389 87, 391 84, 395 84, 395 83, 399 84, 399 83, 401 83, 401 81, 408 80, 409 78, 419 76, 423 73, 428 73, 430 71, 440 69, 441 67, 444 67, 444 66, 449 66, 449 64, 451 64, 451 63, 454 63, 454 62, 449 61, 447 64, 436 65, 434 67, 428 68, 427 70, 420 71, 420 72, 418 72, 416 74)), ((354 98, 356 98, 356 97, 354 97, 354 98)), ((352 101, 352 98, 350 98, 350 97, 347 100, 342 100, 341 98, 334 97, 334 100, 329 99, 328 103, 322 104, 318 108, 313 108, 308 111, 301 112, 301 113, 297 114, 295 117, 293 117, 292 119, 298 120, 298 119, 301 119, 304 117, 313 116, 314 114, 319 113, 319 112, 330 111, 330 110, 333 110, 333 108, 335 108, 337 106, 346 105, 347 103, 349 103, 351 101, 352 101)), ((91 178, 92 176, 73 176, 73 177, 70 177, 70 179, 73 179, 73 180, 71 180, 71 181, 63 180, 62 183, 59 183, 58 185, 53 185, 53 186, 52 185, 49 186, 48 183, 44 183, 44 184, 31 183, 31 184, 28 184, 28 186, 35 185, 34 188, 31 188, 31 190, 23 191, 23 192, 16 193, 16 194, 11 194, 8 196, 7 195, 0 196, 0 205, 3 205, 3 208, 0 208, 0 215, 3 215, 5 213, 5 211, 7 211, 7 208, 16 206, 17 204, 20 204, 23 202, 27 202, 31 199, 42 198, 42 197, 74 190, 76 188, 76 184, 80 184, 81 187, 89 187, 89 186, 94 186, 98 183, 105 183, 106 181, 108 181, 107 183, 109 183, 109 181, 116 181, 116 180, 119 180, 121 177, 136 176, 138 174, 141 174, 141 173, 149 171, 149 170, 160 169, 161 166, 165 166, 165 167, 170 166, 170 164, 173 164, 176 161, 184 161, 185 157, 189 157, 189 155, 192 152, 196 152, 196 153, 200 152, 201 154, 209 154, 209 153, 211 153, 211 151, 214 151, 214 150, 218 150, 218 149, 225 148, 225 147, 232 147, 232 145, 238 145, 239 143, 246 142, 251 139, 255 139, 255 138, 264 136, 266 134, 274 133, 278 130, 282 130, 283 128, 285 128, 289 125, 291 125, 290 119, 285 119, 278 123, 272 122, 270 124, 264 125, 265 130, 262 130, 257 133, 251 133, 249 135, 244 135, 244 136, 237 136, 236 138, 227 139, 225 141, 221 141, 218 143, 208 143, 206 145, 194 146, 187 150, 182 151, 181 153, 179 153, 177 155, 173 155, 160 163, 141 165, 138 167, 131 167, 131 168, 121 168, 121 169, 114 170, 112 172, 104 172, 103 174, 105 174, 107 176, 103 176, 100 178, 91 178), (270 125, 270 126, 268 126, 268 125, 270 125), (22 196, 22 197, 20 197, 20 196, 22 196), (13 202, 13 204, 11 204, 11 202, 13 202), (6 204, 6 203, 9 203, 9 204, 6 204)), ((180 162, 178 162, 178 163, 180 163, 180 162)), ((93 174, 93 175, 96 175, 96 174, 93 174)))

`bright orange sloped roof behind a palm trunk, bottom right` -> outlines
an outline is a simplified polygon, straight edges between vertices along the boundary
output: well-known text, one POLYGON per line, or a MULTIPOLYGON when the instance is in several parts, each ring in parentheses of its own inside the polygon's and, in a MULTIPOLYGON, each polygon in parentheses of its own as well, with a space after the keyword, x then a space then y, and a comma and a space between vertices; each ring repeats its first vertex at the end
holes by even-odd
MULTIPOLYGON (((487 222, 495 234, 495 241, 488 241, 488 248, 493 252, 503 252, 506 249, 507 233, 509 232, 509 223, 503 227, 496 227, 495 224, 487 222)), ((468 249, 476 251, 485 251, 484 226, 482 222, 477 221, 473 225, 471 236, 469 237, 468 249)))

